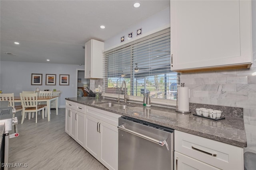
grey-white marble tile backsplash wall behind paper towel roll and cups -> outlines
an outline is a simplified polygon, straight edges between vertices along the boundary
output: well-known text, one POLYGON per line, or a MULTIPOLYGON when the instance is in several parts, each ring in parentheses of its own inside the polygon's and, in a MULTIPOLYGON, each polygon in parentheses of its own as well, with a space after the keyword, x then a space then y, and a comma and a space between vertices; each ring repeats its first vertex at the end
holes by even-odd
POLYGON ((252 52, 250 69, 181 74, 190 88, 190 102, 244 108, 247 148, 256 153, 256 0, 252 1, 252 52))

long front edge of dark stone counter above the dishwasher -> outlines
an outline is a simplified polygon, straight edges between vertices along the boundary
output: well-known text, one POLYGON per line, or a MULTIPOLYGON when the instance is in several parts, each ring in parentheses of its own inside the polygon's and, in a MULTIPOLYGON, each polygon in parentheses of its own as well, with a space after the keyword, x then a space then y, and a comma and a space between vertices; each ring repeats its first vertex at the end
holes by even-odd
MULTIPOLYGON (((112 109, 107 109, 107 108, 95 106, 95 105, 92 105, 92 104, 88 104, 86 102, 78 102, 78 101, 72 100, 70 98, 65 98, 65 100, 69 100, 71 102, 83 104, 83 105, 86 105, 86 106, 95 107, 97 109, 102 109, 102 110, 109 111, 109 112, 112 112, 112 113, 116 113, 116 114, 119 114, 119 115, 124 115, 124 116, 128 116, 128 117, 133 117, 133 118, 136 118, 136 119, 140 119, 140 120, 143 120, 143 121, 148 121, 150 123, 155 123, 155 124, 158 124, 158 125, 162 125, 162 126, 165 126, 165 127, 172 128, 174 130, 182 131, 182 132, 185 132, 185 133, 190 133, 192 135, 197 135, 197 136, 200 136, 200 137, 205 137, 207 139, 212 139, 214 141, 219 141, 219 142, 222 142, 222 143, 227 143, 229 145, 234 145, 236 147, 241 147, 241 148, 247 147, 247 142, 246 141, 244 141, 244 142, 243 141, 236 141, 236 140, 227 139, 227 138, 224 138, 224 137, 218 137, 218 136, 215 136, 215 135, 212 135, 212 134, 202 133, 200 131, 194 131, 194 130, 191 130, 191 129, 182 128, 182 127, 179 127, 179 126, 176 126, 176 125, 170 125, 170 124, 166 124, 166 123, 162 123, 162 122, 158 122, 158 121, 152 121, 150 119, 132 116, 132 115, 125 114, 125 113, 122 113, 122 112, 119 112, 119 111, 115 111, 115 110, 112 110, 112 109)), ((112 100, 110 100, 110 101, 112 101, 112 100)))

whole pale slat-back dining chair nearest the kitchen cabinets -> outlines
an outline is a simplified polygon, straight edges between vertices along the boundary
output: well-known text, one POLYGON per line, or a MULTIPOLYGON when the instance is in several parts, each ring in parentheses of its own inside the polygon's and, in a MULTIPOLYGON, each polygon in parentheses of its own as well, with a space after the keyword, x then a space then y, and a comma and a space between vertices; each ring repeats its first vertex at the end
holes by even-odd
MULTIPOLYGON (((44 106, 37 105, 37 94, 36 93, 20 93, 20 101, 22 104, 22 118, 21 124, 24 121, 25 114, 35 112, 36 123, 37 123, 37 112, 42 110, 42 119, 44 119, 44 106)), ((30 119, 30 114, 29 114, 30 119)))

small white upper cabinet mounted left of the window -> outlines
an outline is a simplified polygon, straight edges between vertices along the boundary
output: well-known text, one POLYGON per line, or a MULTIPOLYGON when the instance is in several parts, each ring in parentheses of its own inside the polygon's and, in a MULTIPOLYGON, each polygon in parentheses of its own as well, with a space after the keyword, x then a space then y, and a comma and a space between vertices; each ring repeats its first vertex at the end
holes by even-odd
POLYGON ((104 43, 91 39, 85 43, 84 78, 103 78, 102 62, 104 43))

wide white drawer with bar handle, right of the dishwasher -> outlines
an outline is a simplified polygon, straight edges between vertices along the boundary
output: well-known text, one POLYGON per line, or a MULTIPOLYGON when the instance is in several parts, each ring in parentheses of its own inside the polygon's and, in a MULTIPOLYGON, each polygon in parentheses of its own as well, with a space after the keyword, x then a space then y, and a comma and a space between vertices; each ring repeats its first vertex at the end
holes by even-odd
POLYGON ((176 130, 174 149, 223 170, 242 170, 244 166, 242 148, 176 130))

